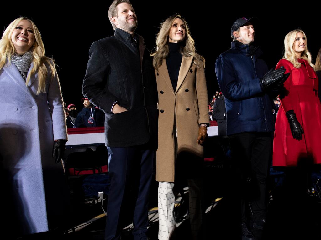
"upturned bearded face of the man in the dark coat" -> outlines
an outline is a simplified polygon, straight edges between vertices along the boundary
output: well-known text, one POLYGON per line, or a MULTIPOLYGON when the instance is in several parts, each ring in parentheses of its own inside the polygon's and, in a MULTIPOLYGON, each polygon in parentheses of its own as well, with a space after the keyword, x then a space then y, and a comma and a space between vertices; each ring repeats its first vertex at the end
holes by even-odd
POLYGON ((137 28, 137 16, 132 5, 128 3, 117 5, 117 16, 111 17, 111 21, 116 28, 120 28, 130 34, 133 34, 137 28))

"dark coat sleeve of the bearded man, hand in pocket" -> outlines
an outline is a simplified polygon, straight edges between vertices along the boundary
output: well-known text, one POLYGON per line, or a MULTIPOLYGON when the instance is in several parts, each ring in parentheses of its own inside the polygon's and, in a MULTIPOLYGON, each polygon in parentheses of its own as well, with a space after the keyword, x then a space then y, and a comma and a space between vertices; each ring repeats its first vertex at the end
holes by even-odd
POLYGON ((82 84, 82 93, 89 101, 106 113, 112 113, 111 108, 119 101, 108 91, 108 57, 97 42, 89 50, 89 61, 82 84))

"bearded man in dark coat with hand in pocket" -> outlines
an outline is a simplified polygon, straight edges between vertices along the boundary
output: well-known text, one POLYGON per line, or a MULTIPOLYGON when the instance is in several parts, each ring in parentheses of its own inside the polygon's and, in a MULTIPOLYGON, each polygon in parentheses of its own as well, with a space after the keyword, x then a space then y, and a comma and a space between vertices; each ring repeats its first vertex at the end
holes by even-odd
POLYGON ((125 207, 134 206, 134 240, 145 240, 157 135, 155 72, 143 38, 134 33, 137 17, 130 2, 115 0, 108 17, 115 35, 91 45, 82 86, 84 96, 106 115, 111 185, 105 239, 120 238, 125 207))

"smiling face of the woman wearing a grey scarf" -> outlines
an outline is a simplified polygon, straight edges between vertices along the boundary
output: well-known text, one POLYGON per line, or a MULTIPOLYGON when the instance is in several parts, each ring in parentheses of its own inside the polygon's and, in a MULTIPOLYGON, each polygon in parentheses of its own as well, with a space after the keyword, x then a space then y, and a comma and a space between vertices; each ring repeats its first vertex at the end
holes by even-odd
POLYGON ((31 22, 28 20, 20 21, 13 29, 11 41, 19 55, 28 52, 35 42, 34 29, 31 22))

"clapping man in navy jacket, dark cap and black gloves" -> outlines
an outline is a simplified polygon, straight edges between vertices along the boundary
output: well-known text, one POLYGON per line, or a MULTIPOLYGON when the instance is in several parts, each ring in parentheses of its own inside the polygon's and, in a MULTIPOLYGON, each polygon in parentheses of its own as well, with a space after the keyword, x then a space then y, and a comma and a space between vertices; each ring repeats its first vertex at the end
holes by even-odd
POLYGON ((216 76, 225 96, 226 134, 232 152, 228 171, 231 182, 227 184, 237 184, 237 194, 234 192, 229 196, 227 193, 226 199, 230 201, 228 208, 232 209, 229 215, 232 225, 233 220, 239 221, 241 216, 243 240, 254 240, 247 228, 245 199, 249 181, 253 193, 250 199, 253 226, 263 229, 265 224, 265 183, 274 131, 271 100, 267 93, 287 77, 283 75, 284 69, 268 72, 265 61, 261 59, 261 50, 252 44, 254 23, 253 18, 240 18, 233 23, 231 49, 223 52, 215 63, 216 76), (234 214, 235 218, 231 217, 234 214))

